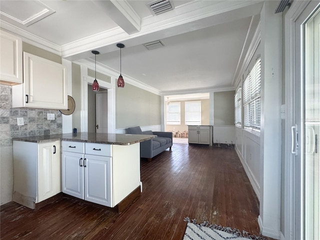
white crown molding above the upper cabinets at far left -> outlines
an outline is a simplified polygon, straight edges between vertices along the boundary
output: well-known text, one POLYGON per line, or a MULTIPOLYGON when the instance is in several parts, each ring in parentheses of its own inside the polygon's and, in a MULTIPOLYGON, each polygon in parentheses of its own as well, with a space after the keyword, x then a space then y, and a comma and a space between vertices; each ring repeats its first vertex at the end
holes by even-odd
POLYGON ((22 41, 61 56, 61 47, 0 19, 0 28, 18 35, 22 41))

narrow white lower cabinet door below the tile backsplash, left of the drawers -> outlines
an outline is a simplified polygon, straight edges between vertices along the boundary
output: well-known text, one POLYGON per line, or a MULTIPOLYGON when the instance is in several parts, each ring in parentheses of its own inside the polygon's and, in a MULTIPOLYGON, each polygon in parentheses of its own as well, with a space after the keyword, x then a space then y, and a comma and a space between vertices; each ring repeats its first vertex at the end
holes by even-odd
POLYGON ((60 141, 37 144, 37 200, 61 191, 60 141))

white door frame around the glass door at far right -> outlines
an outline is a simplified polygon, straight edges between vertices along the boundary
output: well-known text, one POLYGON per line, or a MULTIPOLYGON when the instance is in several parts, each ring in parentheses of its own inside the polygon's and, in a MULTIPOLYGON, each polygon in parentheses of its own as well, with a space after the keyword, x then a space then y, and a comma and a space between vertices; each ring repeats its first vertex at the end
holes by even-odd
MULTIPOLYGON (((298 205, 296 205, 296 197, 301 189, 302 182, 301 175, 302 169, 296 169, 295 167, 295 155, 291 153, 291 126, 295 125, 295 101, 296 101, 296 81, 300 81, 300 77, 296 78, 296 63, 295 57, 298 54, 295 51, 295 22, 304 10, 314 9, 318 4, 318 1, 293 1, 290 9, 287 11, 284 17, 284 69, 285 69, 285 144, 284 144, 284 229, 281 235, 281 239, 300 239, 303 234, 302 221, 296 222, 295 214, 299 211, 301 216, 301 204, 303 204, 303 194, 299 196, 298 205), (310 3, 310 4, 309 4, 310 3), (296 171, 300 171, 300 176, 296 175, 296 171), (299 186, 296 186, 296 177, 300 177, 299 186), (298 189, 296 188, 298 187, 298 189), (295 229, 299 228, 302 231, 296 232, 295 229), (285 238, 284 238, 285 237, 285 238)), ((300 105, 300 102, 297 102, 300 105)), ((300 130, 298 129, 300 132, 300 130)), ((301 135, 301 134, 299 134, 301 135)), ((301 136, 299 142, 301 142, 301 136)), ((301 144, 300 144, 301 146, 301 144)), ((301 147, 299 147, 301 149, 301 147)), ((301 165, 300 165, 301 166, 301 165)))

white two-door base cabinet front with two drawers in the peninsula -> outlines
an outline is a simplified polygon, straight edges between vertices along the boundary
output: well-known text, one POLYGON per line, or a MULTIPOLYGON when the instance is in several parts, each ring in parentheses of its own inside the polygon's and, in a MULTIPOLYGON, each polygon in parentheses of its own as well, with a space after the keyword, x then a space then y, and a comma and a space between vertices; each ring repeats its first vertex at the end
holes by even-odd
POLYGON ((62 192, 113 207, 111 145, 62 141, 62 150, 62 192), (84 144, 90 146, 86 152, 93 149, 97 155, 84 154, 84 144))

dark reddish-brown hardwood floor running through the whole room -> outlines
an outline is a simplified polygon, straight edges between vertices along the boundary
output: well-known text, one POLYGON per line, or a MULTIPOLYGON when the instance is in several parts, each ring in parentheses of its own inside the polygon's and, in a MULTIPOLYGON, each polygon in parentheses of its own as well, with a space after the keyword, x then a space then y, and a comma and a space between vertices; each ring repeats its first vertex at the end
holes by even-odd
POLYGON ((233 148, 173 144, 141 159, 141 181, 141 195, 120 214, 68 197, 37 210, 6 203, 0 238, 182 239, 186 216, 259 234, 258 199, 233 148))

